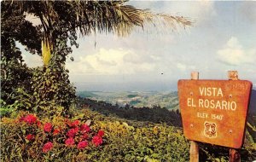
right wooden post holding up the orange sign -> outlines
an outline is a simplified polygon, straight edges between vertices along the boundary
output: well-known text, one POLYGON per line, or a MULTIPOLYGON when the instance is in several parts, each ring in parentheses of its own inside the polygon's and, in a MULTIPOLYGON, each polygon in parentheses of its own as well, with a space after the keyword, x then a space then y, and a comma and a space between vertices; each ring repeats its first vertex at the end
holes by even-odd
MULTIPOLYGON (((237 71, 229 71, 228 72, 229 80, 238 80, 238 72, 237 71)), ((230 160, 229 162, 241 162, 241 155, 238 149, 230 148, 230 160)))

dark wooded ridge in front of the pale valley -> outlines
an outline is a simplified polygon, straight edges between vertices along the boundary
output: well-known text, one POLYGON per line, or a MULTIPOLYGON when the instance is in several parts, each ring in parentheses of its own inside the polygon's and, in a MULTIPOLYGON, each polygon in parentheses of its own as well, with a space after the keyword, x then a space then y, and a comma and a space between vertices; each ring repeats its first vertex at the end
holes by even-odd
POLYGON ((137 120, 155 124, 165 123, 176 127, 182 127, 181 116, 178 110, 168 110, 161 107, 133 107, 126 105, 119 107, 105 101, 94 101, 88 98, 80 98, 81 107, 89 107, 92 111, 102 113, 105 116, 113 116, 119 119, 137 120))

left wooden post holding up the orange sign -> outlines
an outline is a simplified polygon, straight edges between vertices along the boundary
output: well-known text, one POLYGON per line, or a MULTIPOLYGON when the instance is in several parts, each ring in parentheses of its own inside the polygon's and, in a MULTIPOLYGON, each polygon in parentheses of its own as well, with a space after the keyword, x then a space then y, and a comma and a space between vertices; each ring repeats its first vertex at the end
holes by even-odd
MULTIPOLYGON (((191 72, 191 79, 198 80, 199 72, 191 72)), ((195 141, 190 141, 189 161, 199 162, 199 147, 198 147, 198 143, 195 141)))

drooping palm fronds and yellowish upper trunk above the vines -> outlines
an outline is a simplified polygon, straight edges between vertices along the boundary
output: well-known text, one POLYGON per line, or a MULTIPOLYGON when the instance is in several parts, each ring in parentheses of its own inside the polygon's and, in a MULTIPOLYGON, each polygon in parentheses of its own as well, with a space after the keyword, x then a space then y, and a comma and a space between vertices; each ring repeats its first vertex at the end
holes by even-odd
MULTIPOLYGON (((90 35, 92 32, 113 32, 119 36, 129 35, 134 26, 162 21, 161 25, 171 27, 191 26, 191 21, 183 16, 153 14, 148 9, 136 9, 125 5, 125 1, 6 1, 10 6, 17 5, 20 13, 34 14, 43 26, 42 46, 44 53, 55 48, 55 38, 69 35, 73 43, 77 35, 90 35), (49 45, 51 44, 51 45, 49 45)), ((49 57, 46 60, 49 61, 49 57)), ((45 62, 47 62, 45 61, 45 62)))

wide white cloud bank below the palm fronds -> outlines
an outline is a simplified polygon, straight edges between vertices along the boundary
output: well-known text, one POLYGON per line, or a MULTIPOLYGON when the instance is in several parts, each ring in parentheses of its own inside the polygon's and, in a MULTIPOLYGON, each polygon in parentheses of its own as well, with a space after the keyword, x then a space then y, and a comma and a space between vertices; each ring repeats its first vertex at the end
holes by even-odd
POLYGON ((67 68, 73 74, 122 75, 150 72, 154 70, 154 64, 143 61, 140 55, 131 50, 101 48, 93 55, 84 55, 78 61, 67 62, 67 68))

